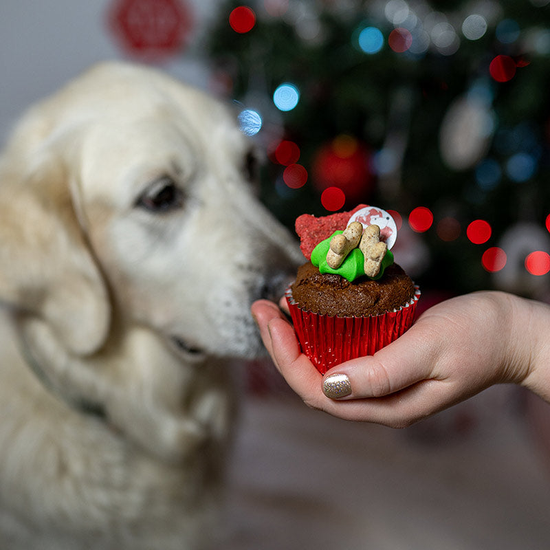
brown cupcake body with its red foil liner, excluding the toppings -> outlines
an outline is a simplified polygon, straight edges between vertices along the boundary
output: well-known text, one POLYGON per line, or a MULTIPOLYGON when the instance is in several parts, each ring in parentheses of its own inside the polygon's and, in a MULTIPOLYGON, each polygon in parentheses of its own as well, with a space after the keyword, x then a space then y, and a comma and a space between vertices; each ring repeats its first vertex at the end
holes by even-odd
MULTIPOLYGON (((337 215, 342 219, 345 214, 337 215)), ((322 218, 309 220, 323 230, 328 225, 322 218)), ((310 240, 311 223, 307 227, 310 240)), ((326 237, 323 234, 322 240, 326 237)), ((303 353, 320 373, 344 361, 373 355, 412 325, 419 288, 396 263, 381 273, 380 278, 363 274, 349 281, 337 273, 321 273, 310 261, 298 268, 296 281, 285 296, 303 353)))

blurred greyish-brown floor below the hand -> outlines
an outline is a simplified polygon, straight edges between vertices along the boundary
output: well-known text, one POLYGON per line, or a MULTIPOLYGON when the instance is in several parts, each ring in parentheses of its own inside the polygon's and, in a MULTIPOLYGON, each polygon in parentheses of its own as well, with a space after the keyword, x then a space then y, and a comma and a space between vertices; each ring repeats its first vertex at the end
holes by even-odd
POLYGON ((406 430, 248 395, 226 550, 547 550, 550 475, 499 386, 406 430))

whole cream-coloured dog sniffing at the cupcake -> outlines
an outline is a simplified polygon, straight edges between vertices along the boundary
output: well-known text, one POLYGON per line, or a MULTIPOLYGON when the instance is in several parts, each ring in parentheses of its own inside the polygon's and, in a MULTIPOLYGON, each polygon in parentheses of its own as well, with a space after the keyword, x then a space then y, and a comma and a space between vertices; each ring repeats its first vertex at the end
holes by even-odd
POLYGON ((0 547, 216 533, 256 298, 302 259, 230 106, 130 63, 29 109, 0 158, 0 547))

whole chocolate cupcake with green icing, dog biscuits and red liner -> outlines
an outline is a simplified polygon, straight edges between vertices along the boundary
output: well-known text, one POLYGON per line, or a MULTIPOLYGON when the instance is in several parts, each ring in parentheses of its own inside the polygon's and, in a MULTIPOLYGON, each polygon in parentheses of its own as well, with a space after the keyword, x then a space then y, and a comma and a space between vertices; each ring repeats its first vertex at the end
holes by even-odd
POLYGON ((420 292, 394 261, 397 226, 388 212, 360 205, 303 214, 296 232, 308 261, 285 297, 302 351, 321 374, 373 355, 412 325, 420 292))

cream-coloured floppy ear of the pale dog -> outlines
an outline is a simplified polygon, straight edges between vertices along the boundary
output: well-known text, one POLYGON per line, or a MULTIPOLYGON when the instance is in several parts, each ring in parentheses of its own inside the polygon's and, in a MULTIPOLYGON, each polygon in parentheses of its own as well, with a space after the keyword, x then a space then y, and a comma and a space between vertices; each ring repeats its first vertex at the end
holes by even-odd
POLYGON ((52 155, 30 169, 2 160, 0 300, 43 318, 72 353, 93 353, 107 338, 111 307, 67 170, 52 155))

